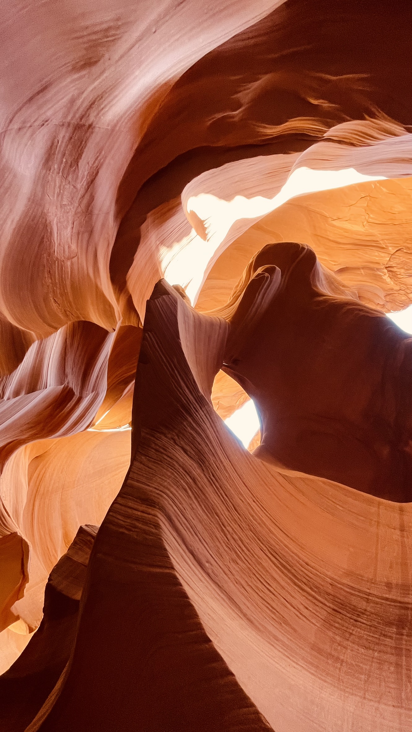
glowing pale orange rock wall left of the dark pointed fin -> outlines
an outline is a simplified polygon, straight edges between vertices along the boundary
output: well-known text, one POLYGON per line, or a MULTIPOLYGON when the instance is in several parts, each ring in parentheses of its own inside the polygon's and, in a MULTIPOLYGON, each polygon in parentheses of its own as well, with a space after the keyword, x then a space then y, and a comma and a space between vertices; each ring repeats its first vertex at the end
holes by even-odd
MULTIPOLYGON (((39 626, 51 569, 80 525, 103 520, 129 461, 130 431, 87 431, 42 440, 20 448, 8 460, 1 476, 4 515, 11 526, 20 527, 30 548, 30 566, 24 597, 10 599, 7 625, 20 619, 23 632, 39 626)), ((20 554, 18 560, 21 564, 20 554)), ((5 653, 11 639, 0 634, 0 640, 5 653)))

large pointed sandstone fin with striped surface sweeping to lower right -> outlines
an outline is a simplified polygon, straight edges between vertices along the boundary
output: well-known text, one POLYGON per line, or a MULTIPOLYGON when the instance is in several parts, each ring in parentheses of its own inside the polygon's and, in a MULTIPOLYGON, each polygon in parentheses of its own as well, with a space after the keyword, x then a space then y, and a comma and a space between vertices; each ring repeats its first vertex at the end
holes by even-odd
POLYGON ((281 730, 411 720, 410 505, 244 452, 199 370, 227 335, 154 289, 134 458, 94 543, 70 664, 30 730, 115 729, 120 714, 124 729, 264 728, 256 708, 281 730), (124 660, 116 679, 102 654, 124 660))

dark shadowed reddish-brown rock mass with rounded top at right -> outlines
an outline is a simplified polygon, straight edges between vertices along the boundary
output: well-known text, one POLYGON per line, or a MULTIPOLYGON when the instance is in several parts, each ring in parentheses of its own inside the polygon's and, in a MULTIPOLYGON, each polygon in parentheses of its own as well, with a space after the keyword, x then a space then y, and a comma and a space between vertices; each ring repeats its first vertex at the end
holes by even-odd
POLYGON ((332 294, 337 283, 302 244, 267 245, 245 276, 225 370, 260 411, 255 455, 411 501, 412 338, 332 294))

